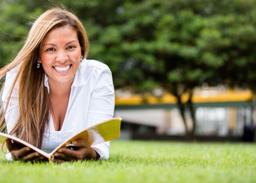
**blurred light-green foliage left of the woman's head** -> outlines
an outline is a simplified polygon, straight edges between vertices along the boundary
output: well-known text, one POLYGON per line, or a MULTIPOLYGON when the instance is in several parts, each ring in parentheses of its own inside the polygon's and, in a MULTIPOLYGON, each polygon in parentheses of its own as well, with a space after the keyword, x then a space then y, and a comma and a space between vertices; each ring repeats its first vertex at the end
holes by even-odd
POLYGON ((21 1, 0 1, 0 66, 10 62, 26 39, 30 22, 42 13, 40 7, 28 10, 21 1))

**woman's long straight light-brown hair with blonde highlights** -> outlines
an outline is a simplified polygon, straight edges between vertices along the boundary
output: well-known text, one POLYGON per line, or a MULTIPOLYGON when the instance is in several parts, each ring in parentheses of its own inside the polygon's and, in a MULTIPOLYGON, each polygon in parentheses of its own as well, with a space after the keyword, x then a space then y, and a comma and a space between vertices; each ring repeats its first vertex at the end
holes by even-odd
MULTIPOLYGON (((44 70, 36 68, 40 47, 47 33, 54 28, 71 26, 77 32, 81 47, 81 55, 88 55, 89 43, 81 21, 73 13, 59 8, 49 9, 39 16, 28 32, 27 39, 18 55, 0 70, 0 80, 5 74, 18 66, 5 110, 0 119, 0 128, 5 128, 5 114, 16 83, 19 84, 19 117, 10 134, 42 147, 44 132, 49 123, 50 102, 48 91, 44 86, 44 70)), ((16 69, 16 68, 15 68, 16 69)))

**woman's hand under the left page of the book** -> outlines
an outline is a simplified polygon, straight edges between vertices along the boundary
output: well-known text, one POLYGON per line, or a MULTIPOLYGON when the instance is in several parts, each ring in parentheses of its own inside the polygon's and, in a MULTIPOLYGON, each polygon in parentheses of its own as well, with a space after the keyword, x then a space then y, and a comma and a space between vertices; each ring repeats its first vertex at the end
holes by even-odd
POLYGON ((6 145, 13 160, 40 161, 44 159, 44 156, 40 155, 38 152, 24 145, 15 143, 13 140, 7 139, 6 145))

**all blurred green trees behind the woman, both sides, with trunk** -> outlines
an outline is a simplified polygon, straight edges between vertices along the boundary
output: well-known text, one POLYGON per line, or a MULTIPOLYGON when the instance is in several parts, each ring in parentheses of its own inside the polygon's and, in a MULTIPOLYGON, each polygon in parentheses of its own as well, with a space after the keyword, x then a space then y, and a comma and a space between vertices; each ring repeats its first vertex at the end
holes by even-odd
MULTIPOLYGON (((177 98, 188 134, 194 134, 196 127, 191 100, 195 86, 228 84, 256 90, 256 0, 61 3, 81 18, 91 45, 89 59, 110 66, 115 88, 170 91, 177 98), (181 102, 184 93, 189 93, 186 103, 181 102), (191 131, 184 115, 186 106, 193 119, 191 131)), ((1 65, 18 51, 30 27, 27 22, 49 4, 1 1, 1 65)))

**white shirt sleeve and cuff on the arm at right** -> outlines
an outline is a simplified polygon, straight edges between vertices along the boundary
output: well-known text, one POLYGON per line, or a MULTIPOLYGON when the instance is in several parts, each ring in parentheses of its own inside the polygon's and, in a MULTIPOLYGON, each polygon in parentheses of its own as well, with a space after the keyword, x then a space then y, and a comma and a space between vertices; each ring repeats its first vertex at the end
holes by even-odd
MULTIPOLYGON (((88 127, 112 119, 114 115, 114 86, 112 73, 108 66, 102 70, 95 83, 88 111, 88 127)), ((109 158, 109 142, 93 145, 92 148, 100 155, 101 159, 109 158)))

